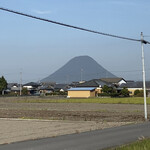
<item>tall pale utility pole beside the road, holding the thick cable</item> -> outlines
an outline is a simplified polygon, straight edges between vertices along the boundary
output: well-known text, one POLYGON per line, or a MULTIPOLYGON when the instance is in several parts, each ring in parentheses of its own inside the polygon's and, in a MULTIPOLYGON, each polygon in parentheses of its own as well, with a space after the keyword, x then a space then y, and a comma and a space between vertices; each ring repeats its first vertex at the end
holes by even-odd
POLYGON ((145 85, 145 65, 144 65, 144 44, 147 44, 147 42, 144 41, 143 32, 141 32, 142 66, 143 66, 143 92, 144 92, 144 113, 145 113, 145 120, 147 120, 146 85, 145 85))

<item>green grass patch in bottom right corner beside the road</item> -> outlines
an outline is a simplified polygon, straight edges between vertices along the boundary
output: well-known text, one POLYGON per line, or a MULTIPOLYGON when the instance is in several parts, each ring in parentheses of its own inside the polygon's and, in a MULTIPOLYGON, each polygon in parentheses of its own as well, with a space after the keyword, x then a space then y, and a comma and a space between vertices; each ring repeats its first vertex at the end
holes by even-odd
POLYGON ((118 148, 112 148, 110 150, 150 150, 150 139, 137 141, 135 143, 118 148))

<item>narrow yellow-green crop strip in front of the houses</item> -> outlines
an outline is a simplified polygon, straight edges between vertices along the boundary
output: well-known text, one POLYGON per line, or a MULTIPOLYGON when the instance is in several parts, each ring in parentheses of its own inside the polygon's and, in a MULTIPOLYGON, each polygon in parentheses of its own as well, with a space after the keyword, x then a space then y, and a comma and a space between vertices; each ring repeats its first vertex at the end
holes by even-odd
MULTIPOLYGON (((13 100, 16 103, 100 103, 100 104, 143 104, 143 97, 128 98, 86 98, 86 99, 52 99, 52 98, 17 98, 13 100)), ((147 104, 150 104, 150 98, 147 98, 147 104)))

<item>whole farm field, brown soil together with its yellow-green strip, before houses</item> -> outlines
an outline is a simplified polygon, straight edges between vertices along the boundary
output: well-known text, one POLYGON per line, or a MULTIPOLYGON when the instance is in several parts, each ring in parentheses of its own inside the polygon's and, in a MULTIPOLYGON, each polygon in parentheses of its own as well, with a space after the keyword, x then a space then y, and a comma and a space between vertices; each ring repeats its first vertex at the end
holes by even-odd
POLYGON ((143 98, 0 97, 0 118, 141 122, 144 106, 143 98))

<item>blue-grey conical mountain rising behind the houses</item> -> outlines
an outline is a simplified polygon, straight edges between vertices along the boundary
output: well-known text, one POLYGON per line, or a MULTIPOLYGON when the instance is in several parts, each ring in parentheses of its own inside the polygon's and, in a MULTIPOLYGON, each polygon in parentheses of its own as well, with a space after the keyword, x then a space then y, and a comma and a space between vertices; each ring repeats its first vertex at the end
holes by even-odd
POLYGON ((78 56, 71 59, 50 76, 44 78, 42 82, 71 83, 74 81, 114 77, 116 76, 99 65, 93 58, 78 56))

